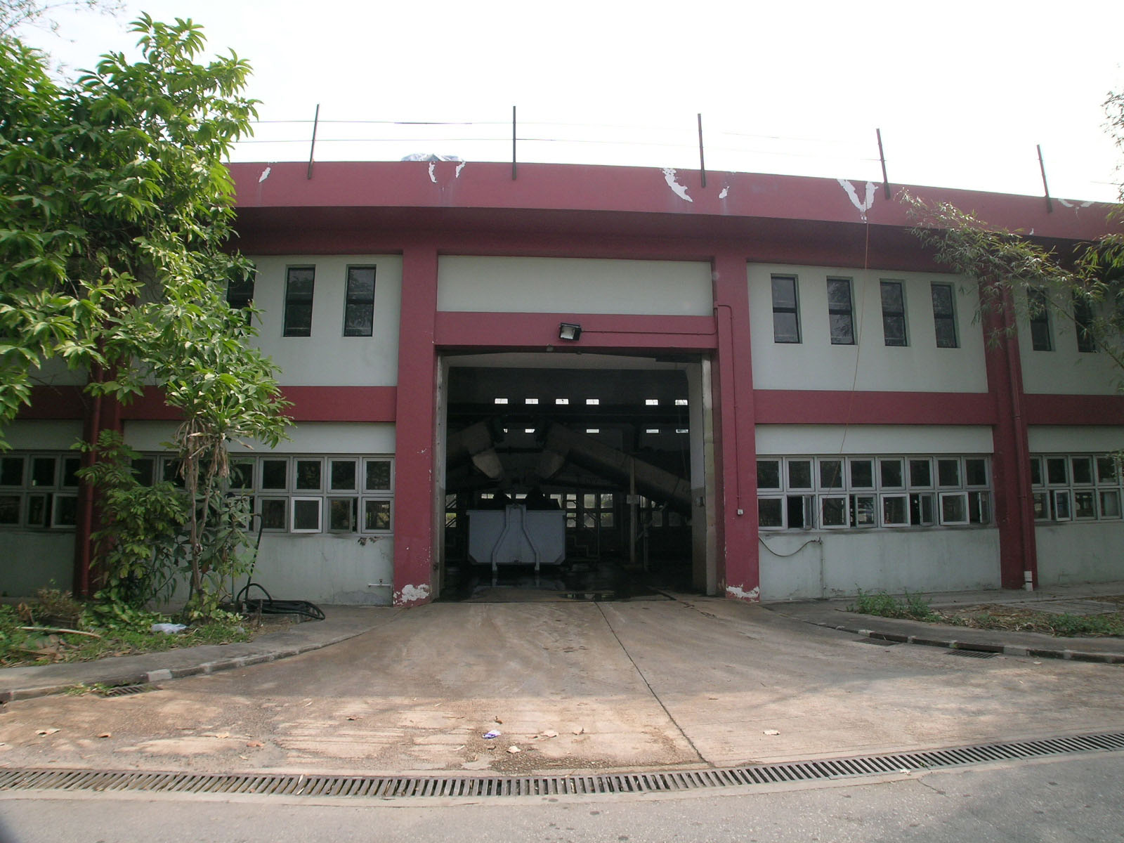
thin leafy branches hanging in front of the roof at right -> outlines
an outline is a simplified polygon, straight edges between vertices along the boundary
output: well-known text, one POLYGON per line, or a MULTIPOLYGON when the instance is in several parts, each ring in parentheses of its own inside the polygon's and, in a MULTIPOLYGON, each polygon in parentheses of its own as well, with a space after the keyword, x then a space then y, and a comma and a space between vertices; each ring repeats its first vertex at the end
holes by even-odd
MULTIPOLYGON (((1124 92, 1109 94, 1105 110, 1108 130, 1124 152, 1124 92)), ((1108 220, 1120 228, 1124 183, 1117 198, 1108 220)), ((1106 234, 1061 254, 948 202, 926 202, 906 192, 900 199, 916 224, 914 234, 933 250, 936 262, 979 282, 982 312, 1037 316, 1050 310, 1124 375, 1124 234, 1106 234)), ((1013 321, 1007 330, 1014 330, 1013 321)))

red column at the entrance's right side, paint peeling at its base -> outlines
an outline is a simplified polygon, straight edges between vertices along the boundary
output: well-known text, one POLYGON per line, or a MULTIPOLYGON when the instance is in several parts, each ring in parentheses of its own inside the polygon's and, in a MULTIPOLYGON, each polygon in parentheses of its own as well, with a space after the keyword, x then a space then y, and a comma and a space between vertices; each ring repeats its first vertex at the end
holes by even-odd
POLYGON ((713 273, 718 330, 713 377, 718 586, 726 597, 756 600, 761 595, 758 464, 745 257, 716 253, 713 273))

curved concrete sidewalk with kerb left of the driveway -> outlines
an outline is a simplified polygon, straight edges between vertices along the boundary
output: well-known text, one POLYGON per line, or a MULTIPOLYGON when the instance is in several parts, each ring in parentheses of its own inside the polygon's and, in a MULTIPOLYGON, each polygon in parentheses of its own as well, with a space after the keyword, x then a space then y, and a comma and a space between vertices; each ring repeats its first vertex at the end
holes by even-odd
POLYGON ((62 694, 79 685, 146 685, 272 662, 362 635, 391 622, 400 611, 381 606, 329 606, 324 610, 324 620, 293 624, 245 643, 181 647, 92 662, 3 668, 0 703, 62 694))

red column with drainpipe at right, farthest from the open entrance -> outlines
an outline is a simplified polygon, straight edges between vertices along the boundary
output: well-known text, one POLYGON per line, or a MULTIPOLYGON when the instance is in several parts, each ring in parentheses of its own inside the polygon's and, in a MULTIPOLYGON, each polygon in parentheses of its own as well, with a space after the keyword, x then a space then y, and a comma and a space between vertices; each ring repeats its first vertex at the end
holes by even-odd
POLYGON ((984 314, 988 391, 996 407, 991 478, 999 527, 999 579, 1004 588, 1023 588, 1028 571, 1037 586, 1039 563, 1031 496, 1030 441, 1023 413, 1023 368, 1014 329, 1009 292, 990 297, 984 314))

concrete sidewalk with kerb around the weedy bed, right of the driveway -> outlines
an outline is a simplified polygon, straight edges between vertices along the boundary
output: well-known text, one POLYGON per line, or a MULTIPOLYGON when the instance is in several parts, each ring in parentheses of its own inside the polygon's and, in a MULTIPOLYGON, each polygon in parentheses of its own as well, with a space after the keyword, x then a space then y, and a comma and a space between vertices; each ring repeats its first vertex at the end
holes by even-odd
MULTIPOLYGON (((950 591, 921 595, 921 597, 928 600, 934 609, 963 609, 999 604, 1032 610, 1080 613, 1086 608, 1081 606, 1081 601, 1096 601, 1097 597, 1114 595, 1124 595, 1124 582, 1052 586, 1036 591, 950 591)), ((1039 659, 1124 663, 1124 640, 1121 638, 1067 638, 1043 633, 972 629, 946 624, 859 615, 847 611, 847 607, 853 602, 854 598, 841 598, 762 602, 762 606, 786 617, 876 641, 1039 659)))

